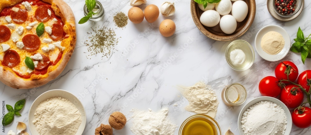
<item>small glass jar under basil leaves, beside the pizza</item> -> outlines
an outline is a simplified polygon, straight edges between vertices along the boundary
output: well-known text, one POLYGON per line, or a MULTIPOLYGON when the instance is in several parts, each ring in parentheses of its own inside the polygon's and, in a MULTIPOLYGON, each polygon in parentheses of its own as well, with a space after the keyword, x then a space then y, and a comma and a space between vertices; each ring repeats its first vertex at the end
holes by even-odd
MULTIPOLYGON (((102 19, 104 16, 103 5, 101 5, 101 3, 99 1, 95 1, 95 2, 96 2, 96 5, 92 11, 94 13, 97 13, 97 14, 92 15, 92 17, 90 18, 90 20, 92 20, 92 21, 98 21, 98 20, 102 19)), ((87 6, 85 4, 84 5, 84 15, 86 16, 88 13, 89 13, 89 10, 87 9, 87 6)))

